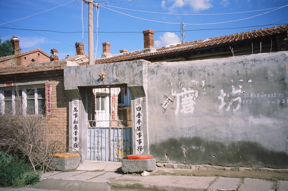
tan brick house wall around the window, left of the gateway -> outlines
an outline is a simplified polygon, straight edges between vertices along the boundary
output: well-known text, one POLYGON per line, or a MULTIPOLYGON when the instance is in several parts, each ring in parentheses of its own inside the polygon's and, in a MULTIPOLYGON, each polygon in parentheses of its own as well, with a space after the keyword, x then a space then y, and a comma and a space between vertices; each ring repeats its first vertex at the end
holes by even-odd
MULTIPOLYGON (((46 80, 45 87, 49 84, 51 88, 51 115, 46 115, 48 134, 51 141, 60 142, 59 152, 66 152, 67 128, 69 117, 67 108, 69 98, 64 89, 64 66, 66 62, 48 62, 26 66, 12 66, 0 68, 0 83, 14 81, 17 83, 29 83, 37 86, 37 81, 46 80)), ((46 114, 47 114, 47 91, 46 91, 46 114)))

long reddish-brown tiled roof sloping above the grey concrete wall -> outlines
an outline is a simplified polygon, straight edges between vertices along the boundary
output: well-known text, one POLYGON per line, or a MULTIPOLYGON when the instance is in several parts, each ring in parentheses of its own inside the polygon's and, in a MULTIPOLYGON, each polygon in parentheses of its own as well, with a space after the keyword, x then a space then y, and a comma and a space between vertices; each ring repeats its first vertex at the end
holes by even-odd
POLYGON ((145 59, 145 58, 150 58, 154 56, 162 56, 165 54, 186 52, 186 51, 208 48, 208 47, 217 46, 217 45, 233 43, 237 41, 255 39, 255 38, 265 37, 265 36, 270 36, 270 35, 279 35, 279 34, 284 33, 285 31, 287 31, 287 24, 272 27, 272 28, 268 27, 266 29, 259 29, 255 31, 226 35, 222 37, 214 37, 210 39, 202 39, 202 40, 197 40, 197 41, 192 41, 192 42, 185 42, 185 43, 177 44, 174 46, 158 48, 156 49, 155 52, 143 53, 142 50, 138 50, 134 52, 122 53, 122 54, 115 55, 109 58, 96 59, 96 64, 121 62, 121 61, 129 61, 129 60, 139 60, 139 59, 145 59))

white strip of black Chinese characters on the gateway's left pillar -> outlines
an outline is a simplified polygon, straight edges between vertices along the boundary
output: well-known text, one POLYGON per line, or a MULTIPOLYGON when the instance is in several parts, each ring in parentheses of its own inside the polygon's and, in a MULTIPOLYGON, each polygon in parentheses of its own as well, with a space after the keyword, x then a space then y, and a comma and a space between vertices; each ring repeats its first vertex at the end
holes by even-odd
POLYGON ((72 147, 79 148, 79 99, 72 100, 72 147))

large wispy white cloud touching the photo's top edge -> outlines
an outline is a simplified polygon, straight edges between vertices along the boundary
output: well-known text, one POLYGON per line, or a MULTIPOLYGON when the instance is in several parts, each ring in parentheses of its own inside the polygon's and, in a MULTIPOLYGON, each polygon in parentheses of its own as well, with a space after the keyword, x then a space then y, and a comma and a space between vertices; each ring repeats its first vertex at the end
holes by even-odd
POLYGON ((162 0, 161 6, 164 8, 168 3, 170 5, 172 4, 169 7, 169 12, 175 12, 177 8, 184 6, 191 6, 194 11, 200 11, 213 7, 211 1, 212 0, 162 0))

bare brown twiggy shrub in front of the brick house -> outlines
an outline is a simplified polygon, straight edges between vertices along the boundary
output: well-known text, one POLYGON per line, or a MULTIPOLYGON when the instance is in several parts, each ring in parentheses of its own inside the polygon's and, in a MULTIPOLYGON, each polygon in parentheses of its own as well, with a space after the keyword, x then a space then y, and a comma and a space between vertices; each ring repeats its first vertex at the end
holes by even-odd
POLYGON ((26 156, 35 172, 39 166, 43 172, 54 170, 51 156, 59 151, 61 140, 49 139, 47 121, 43 115, 15 114, 5 109, 5 114, 0 114, 0 150, 26 156))

